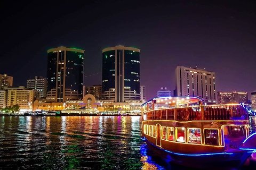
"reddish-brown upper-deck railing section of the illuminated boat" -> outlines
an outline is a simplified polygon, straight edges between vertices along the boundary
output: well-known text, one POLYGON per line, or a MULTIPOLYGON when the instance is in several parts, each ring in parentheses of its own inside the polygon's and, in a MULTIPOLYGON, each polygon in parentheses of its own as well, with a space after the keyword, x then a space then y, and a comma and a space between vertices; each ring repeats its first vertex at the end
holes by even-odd
POLYGON ((247 120, 246 109, 241 105, 190 106, 155 109, 144 113, 147 120, 247 120))

